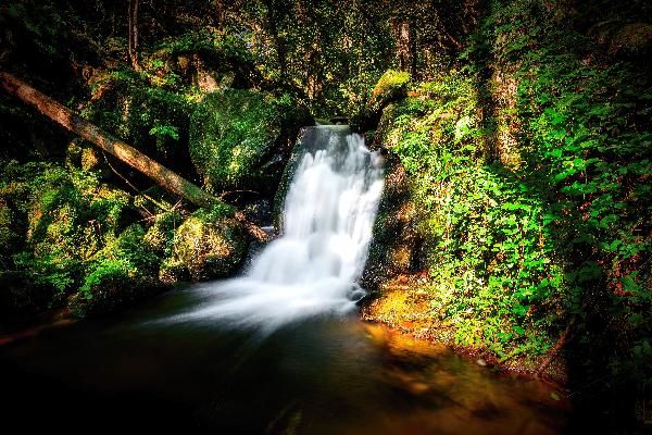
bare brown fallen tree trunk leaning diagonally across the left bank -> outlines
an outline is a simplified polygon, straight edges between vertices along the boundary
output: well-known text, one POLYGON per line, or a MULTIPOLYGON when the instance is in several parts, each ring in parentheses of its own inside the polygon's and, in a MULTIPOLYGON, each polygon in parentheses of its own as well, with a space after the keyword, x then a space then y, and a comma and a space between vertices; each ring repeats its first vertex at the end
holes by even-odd
POLYGON ((33 105, 52 121, 140 171, 164 189, 178 195, 188 202, 199 207, 211 207, 218 202, 214 196, 145 156, 136 148, 103 132, 101 128, 82 119, 72 110, 63 107, 11 74, 0 72, 0 87, 23 102, 33 105))

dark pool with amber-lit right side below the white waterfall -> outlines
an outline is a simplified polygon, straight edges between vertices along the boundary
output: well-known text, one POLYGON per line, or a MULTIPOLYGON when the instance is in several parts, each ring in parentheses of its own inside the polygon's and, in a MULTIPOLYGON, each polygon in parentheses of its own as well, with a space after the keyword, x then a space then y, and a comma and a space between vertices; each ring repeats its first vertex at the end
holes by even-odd
POLYGON ((563 432, 567 405, 549 385, 497 374, 354 314, 274 332, 174 320, 202 303, 201 295, 172 291, 120 318, 50 327, 0 347, 2 425, 67 433, 563 432))

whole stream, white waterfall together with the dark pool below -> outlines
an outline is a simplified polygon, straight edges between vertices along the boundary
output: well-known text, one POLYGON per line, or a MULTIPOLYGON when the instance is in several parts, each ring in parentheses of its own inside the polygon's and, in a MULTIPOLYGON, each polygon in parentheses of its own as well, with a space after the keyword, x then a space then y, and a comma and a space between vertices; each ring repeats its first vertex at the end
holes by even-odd
POLYGON ((120 315, 0 337, 21 432, 559 434, 563 391, 358 319, 383 163, 344 127, 306 132, 284 232, 235 279, 120 315), (7 344, 9 343, 9 344, 7 344))

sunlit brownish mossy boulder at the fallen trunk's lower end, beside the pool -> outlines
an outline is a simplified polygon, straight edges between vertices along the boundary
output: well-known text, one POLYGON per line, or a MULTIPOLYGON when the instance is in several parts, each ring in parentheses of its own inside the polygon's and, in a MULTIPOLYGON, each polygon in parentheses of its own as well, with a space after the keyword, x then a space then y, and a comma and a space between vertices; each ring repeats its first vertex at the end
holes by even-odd
POLYGON ((249 246, 249 234, 233 211, 199 210, 177 228, 172 257, 161 270, 161 279, 176 282, 225 277, 240 265, 249 246))

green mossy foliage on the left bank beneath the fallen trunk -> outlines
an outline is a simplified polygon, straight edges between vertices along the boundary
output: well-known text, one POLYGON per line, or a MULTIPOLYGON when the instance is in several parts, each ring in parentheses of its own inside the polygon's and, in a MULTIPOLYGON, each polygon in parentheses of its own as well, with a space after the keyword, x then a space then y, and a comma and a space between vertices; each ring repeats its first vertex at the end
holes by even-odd
POLYGON ((47 307, 70 303, 85 314, 159 285, 163 252, 145 243, 140 225, 126 226, 130 199, 124 191, 102 185, 92 172, 55 164, 8 162, 0 173, 2 210, 16 220, 1 227, 13 232, 2 261, 26 285, 49 293, 38 298, 47 307), (110 303, 91 301, 109 287, 110 303))

